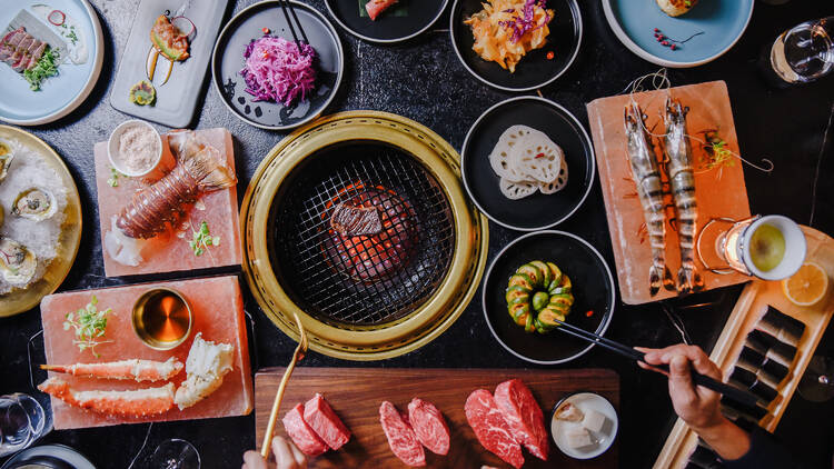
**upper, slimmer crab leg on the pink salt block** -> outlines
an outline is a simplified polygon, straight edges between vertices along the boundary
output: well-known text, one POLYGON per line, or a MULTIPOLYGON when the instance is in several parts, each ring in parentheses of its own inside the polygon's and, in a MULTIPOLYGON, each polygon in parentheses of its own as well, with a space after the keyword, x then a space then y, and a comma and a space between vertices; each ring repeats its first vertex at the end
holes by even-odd
POLYGON ((130 379, 137 382, 152 382, 171 379, 182 371, 183 365, 171 357, 167 361, 130 359, 107 363, 41 365, 40 368, 85 378, 130 379))

